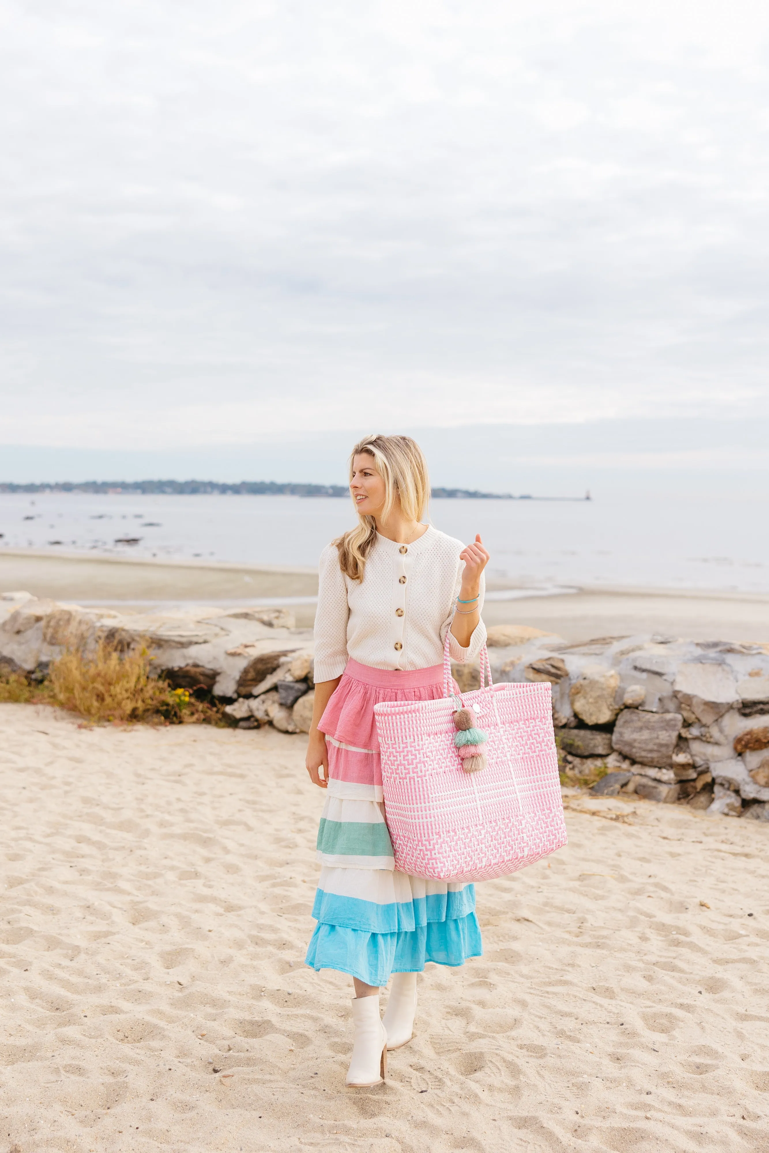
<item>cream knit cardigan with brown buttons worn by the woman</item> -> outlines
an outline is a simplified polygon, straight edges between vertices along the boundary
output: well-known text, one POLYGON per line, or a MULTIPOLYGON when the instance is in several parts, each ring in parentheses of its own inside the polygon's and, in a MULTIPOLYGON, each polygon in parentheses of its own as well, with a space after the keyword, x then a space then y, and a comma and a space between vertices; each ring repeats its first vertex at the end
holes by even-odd
MULTIPOLYGON (((315 617, 315 680, 340 677, 348 657, 374 669, 442 664, 465 567, 459 559, 463 548, 461 541, 432 526, 412 544, 377 536, 363 580, 354 581, 341 572, 336 545, 326 545, 321 555, 315 617)), ((483 576, 480 591, 482 609, 483 576)), ((485 639, 483 621, 467 648, 452 634, 452 658, 473 660, 485 639)))

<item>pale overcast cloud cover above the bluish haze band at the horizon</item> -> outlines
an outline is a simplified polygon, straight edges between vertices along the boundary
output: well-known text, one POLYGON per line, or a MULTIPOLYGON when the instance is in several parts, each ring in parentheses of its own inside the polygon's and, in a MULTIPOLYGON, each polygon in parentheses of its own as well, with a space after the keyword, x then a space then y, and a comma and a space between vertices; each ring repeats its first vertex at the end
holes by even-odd
POLYGON ((766 2, 0 0, 0 444, 769 416, 766 2))

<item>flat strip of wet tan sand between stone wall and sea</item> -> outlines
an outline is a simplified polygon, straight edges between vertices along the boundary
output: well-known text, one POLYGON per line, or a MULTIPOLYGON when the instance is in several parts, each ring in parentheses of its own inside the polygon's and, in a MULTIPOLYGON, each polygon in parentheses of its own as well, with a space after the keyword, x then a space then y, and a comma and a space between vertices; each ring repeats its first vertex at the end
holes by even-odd
MULTIPOLYGON (((76 603, 306 597, 317 593, 314 570, 214 565, 203 562, 131 560, 32 551, 0 552, 0 591, 27 589, 36 596, 76 603)), ((499 587, 499 581, 490 582, 499 587)), ((291 604, 300 627, 309 627, 315 605, 291 604)), ((130 611, 130 606, 128 606, 130 611)), ((664 633, 692 640, 769 641, 769 595, 651 589, 581 589, 561 596, 488 601, 488 625, 534 625, 571 643, 593 636, 664 633)))

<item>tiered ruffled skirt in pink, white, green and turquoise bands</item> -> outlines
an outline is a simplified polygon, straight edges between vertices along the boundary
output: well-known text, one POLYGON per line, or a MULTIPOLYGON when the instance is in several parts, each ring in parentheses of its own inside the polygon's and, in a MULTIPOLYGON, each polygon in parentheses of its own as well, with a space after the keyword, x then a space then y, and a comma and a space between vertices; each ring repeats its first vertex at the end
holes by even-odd
POLYGON ((439 664, 395 672, 350 660, 321 718, 329 786, 317 841, 317 925, 306 958, 315 970, 382 986, 391 973, 421 972, 428 960, 461 965, 483 951, 475 887, 395 871, 387 832, 374 706, 442 695, 439 664))

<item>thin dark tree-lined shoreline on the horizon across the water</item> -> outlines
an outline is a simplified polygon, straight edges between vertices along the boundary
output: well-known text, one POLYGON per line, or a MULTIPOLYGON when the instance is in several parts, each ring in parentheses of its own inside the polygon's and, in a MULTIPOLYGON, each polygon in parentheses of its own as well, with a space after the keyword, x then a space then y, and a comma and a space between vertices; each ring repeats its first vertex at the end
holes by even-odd
MULTIPOLYGON (((61 481, 56 484, 0 483, 0 492, 50 493, 85 492, 91 496, 267 496, 267 497, 348 497, 344 484, 301 484, 277 481, 239 481, 227 484, 221 481, 61 481)), ((513 496, 511 492, 480 492, 476 489, 435 488, 431 496, 436 500, 590 500, 583 497, 535 497, 528 492, 513 496)))

